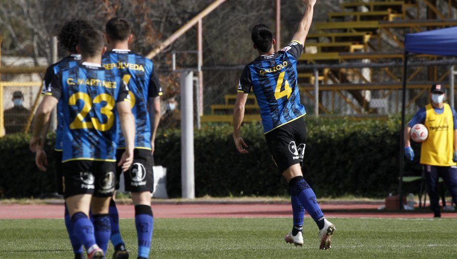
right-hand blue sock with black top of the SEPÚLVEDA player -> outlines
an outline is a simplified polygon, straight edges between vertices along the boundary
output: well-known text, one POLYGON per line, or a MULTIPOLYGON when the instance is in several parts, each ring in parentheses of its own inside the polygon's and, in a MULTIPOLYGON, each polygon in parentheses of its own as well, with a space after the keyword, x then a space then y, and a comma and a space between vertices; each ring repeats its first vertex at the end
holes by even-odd
POLYGON ((152 216, 151 206, 135 206, 135 226, 138 236, 138 257, 149 257, 151 250, 151 239, 154 217, 152 216))

